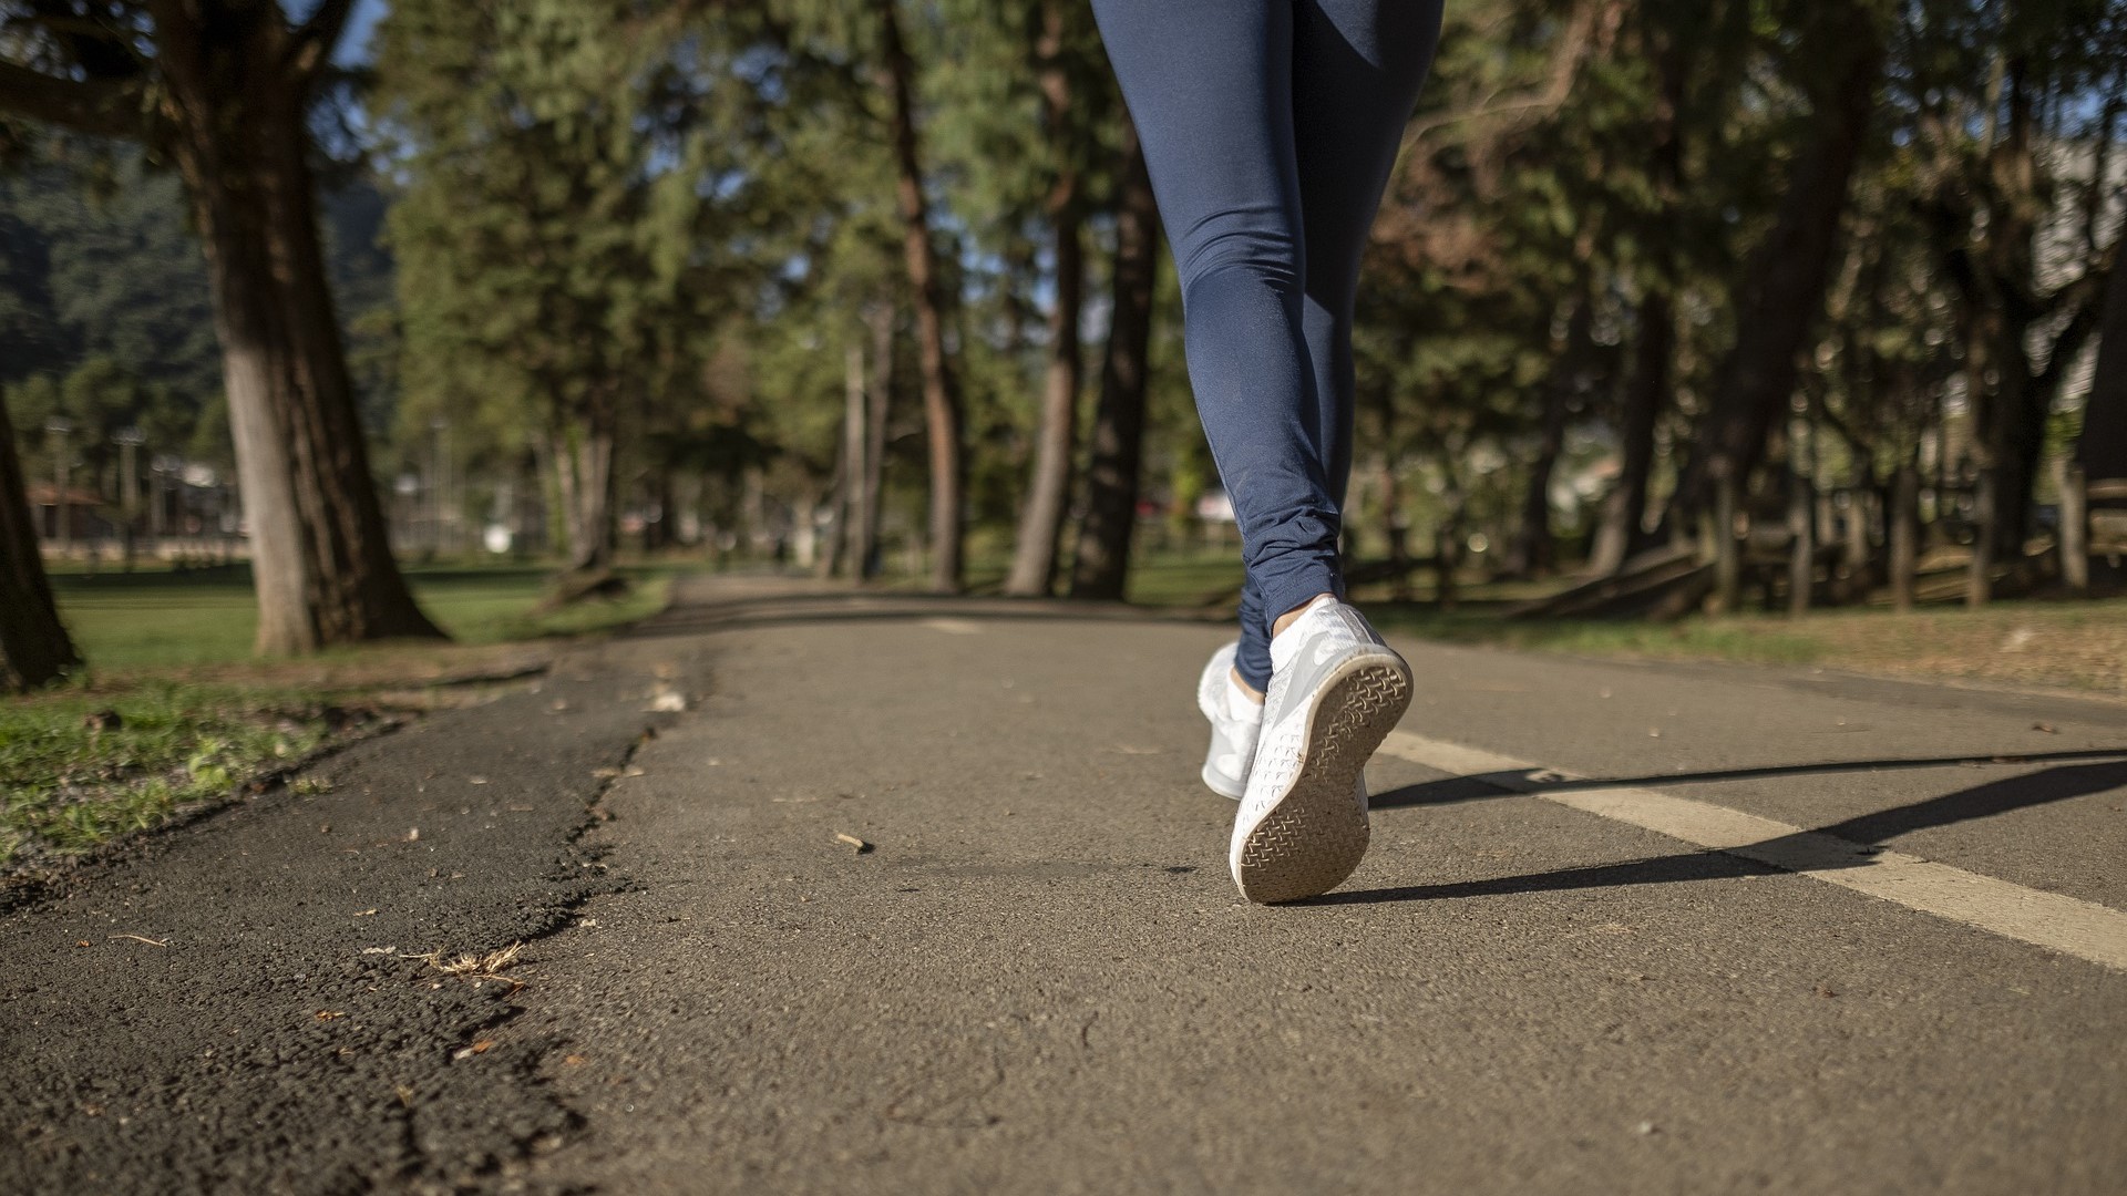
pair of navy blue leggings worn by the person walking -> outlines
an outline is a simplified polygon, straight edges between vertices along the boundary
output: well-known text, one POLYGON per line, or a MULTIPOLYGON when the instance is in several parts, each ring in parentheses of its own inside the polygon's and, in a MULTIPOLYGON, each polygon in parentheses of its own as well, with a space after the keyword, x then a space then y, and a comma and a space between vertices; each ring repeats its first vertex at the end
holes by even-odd
POLYGON ((1440 0, 1093 0, 1183 283, 1189 383, 1240 521, 1240 675, 1342 594, 1359 253, 1440 0))

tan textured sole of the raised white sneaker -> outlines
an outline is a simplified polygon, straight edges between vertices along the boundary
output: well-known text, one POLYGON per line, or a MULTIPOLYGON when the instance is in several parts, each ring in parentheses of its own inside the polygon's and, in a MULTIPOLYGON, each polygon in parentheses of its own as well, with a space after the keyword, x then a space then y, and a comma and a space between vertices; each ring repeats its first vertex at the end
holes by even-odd
POLYGON ((1321 896, 1351 877, 1372 836, 1353 794, 1366 762, 1410 709, 1410 670, 1361 655, 1329 675, 1308 715, 1291 790, 1234 856, 1240 894, 1259 904, 1321 896))

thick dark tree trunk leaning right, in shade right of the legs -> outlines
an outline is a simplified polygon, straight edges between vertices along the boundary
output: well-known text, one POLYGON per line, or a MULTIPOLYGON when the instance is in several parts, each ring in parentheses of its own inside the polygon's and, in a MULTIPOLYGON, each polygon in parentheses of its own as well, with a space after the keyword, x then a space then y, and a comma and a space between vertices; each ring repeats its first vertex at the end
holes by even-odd
POLYGON ((1855 6, 1846 17, 1850 53, 1836 89, 1814 115, 1814 138, 1789 175, 1765 243, 1736 296, 1736 345, 1721 362, 1714 404, 1676 489, 1676 515, 1689 526, 1714 498, 1719 479, 1742 481, 1765 453, 1765 436, 1795 392, 1795 362, 1825 306, 1846 189, 1874 113, 1882 43, 1874 19, 1855 6))

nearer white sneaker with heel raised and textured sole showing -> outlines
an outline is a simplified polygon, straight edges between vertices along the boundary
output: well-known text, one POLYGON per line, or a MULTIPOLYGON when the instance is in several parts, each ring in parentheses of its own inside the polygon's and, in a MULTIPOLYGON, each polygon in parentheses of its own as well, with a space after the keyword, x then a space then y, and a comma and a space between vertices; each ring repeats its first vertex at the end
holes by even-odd
POLYGON ((1255 902, 1325 894, 1366 856, 1366 760, 1410 707, 1410 666, 1321 596, 1270 641, 1263 730, 1227 864, 1255 902))

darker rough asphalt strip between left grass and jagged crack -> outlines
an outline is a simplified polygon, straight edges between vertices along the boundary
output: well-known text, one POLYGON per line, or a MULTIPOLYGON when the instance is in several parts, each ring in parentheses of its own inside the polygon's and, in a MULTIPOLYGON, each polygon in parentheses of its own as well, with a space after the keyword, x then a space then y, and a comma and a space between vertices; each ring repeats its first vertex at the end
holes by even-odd
POLYGON ((568 1141, 521 985, 411 953, 536 945, 630 890, 585 836, 674 717, 644 681, 581 653, 0 913, 0 1190, 464 1192, 568 1141))

